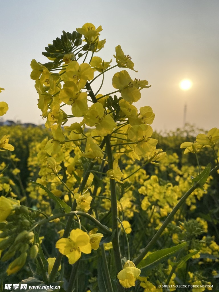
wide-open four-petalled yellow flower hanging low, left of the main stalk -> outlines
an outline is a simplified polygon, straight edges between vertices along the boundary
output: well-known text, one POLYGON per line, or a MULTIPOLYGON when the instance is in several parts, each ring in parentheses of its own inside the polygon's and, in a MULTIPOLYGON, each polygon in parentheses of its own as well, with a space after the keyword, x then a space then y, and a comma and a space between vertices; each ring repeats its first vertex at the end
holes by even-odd
POLYGON ((91 253, 90 237, 81 229, 73 229, 69 238, 61 238, 56 242, 59 252, 67 256, 69 264, 73 265, 81 257, 82 253, 91 253))

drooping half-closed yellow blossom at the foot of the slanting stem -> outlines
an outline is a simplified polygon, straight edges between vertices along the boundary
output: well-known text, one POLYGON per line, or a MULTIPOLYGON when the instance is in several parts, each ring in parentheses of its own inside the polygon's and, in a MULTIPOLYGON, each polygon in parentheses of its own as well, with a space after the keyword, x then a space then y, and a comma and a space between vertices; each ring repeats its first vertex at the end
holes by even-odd
POLYGON ((135 286, 135 281, 137 280, 137 277, 140 275, 141 270, 135 267, 135 264, 128 260, 123 270, 119 272, 117 275, 120 284, 125 288, 130 288, 132 286, 135 286))

